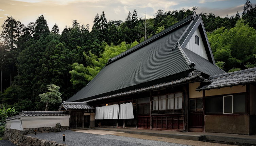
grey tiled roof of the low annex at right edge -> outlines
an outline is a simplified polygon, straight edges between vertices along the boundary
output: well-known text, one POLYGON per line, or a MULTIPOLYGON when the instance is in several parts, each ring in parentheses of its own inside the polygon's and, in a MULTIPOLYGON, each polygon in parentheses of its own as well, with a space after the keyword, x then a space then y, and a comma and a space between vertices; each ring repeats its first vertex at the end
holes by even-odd
POLYGON ((208 79, 211 83, 200 87, 198 91, 254 83, 256 82, 256 68, 210 76, 208 79))

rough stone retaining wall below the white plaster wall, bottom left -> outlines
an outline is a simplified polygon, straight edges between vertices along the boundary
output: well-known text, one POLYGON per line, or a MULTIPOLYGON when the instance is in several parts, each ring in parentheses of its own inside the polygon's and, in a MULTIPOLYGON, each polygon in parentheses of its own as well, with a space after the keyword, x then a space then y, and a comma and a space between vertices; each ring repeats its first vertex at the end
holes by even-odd
MULTIPOLYGON (((47 130, 48 128, 49 127, 45 127, 44 130, 40 129, 41 131, 38 128, 38 130, 40 132, 52 130, 52 129, 47 130)), ((33 138, 31 136, 25 135, 25 134, 28 134, 29 132, 32 132, 31 130, 33 130, 33 133, 34 133, 33 128, 28 128, 27 130, 23 130, 23 131, 6 128, 4 131, 3 140, 8 140, 18 146, 67 146, 66 144, 58 144, 53 141, 40 140, 37 138, 33 138)), ((35 130, 37 129, 35 128, 35 130)))

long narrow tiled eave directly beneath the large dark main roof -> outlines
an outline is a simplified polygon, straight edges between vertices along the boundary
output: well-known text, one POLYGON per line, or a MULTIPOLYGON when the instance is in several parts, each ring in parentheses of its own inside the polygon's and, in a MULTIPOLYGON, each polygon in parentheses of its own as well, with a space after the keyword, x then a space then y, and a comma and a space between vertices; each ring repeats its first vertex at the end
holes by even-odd
POLYGON ((99 97, 99 98, 94 98, 94 99, 90 99, 90 100, 84 101, 84 102, 88 103, 88 102, 97 101, 97 100, 101 100, 101 99, 107 99, 107 98, 113 98, 113 97, 118 97, 118 96, 130 95, 130 94, 145 92, 145 91, 149 91, 149 90, 153 90, 153 89, 155 90, 155 89, 159 89, 159 88, 163 88, 163 87, 169 87, 169 86, 184 83, 188 80, 191 80, 191 79, 194 79, 194 78, 197 78, 197 77, 199 79, 203 80, 203 81, 209 82, 209 80, 203 78, 200 75, 201 75, 201 72, 199 72, 198 70, 194 70, 191 73, 189 73, 188 76, 185 77, 185 78, 176 79, 176 80, 173 80, 173 81, 168 81, 166 83, 161 83, 161 84, 157 84, 157 85, 153 85, 153 86, 149 86, 149 87, 144 87, 144 88, 134 89, 134 90, 125 91, 125 92, 121 92, 121 93, 116 93, 116 94, 112 94, 112 95, 107 95, 107 96, 103 96, 103 97, 99 97))

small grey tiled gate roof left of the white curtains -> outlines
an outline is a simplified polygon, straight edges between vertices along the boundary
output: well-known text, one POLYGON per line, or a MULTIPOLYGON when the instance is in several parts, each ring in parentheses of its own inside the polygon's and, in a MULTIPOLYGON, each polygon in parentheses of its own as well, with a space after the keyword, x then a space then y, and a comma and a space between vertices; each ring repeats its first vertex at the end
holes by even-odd
POLYGON ((89 106, 87 103, 80 102, 63 102, 59 107, 59 110, 65 108, 66 110, 70 109, 94 109, 92 106, 89 106))

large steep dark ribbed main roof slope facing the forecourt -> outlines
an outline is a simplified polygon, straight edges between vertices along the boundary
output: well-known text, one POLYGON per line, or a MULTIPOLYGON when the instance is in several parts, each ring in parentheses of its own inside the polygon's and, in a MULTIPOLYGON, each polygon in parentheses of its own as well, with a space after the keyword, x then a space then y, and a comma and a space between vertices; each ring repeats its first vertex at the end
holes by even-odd
POLYGON ((189 16, 111 58, 88 85, 67 101, 87 101, 185 77, 195 69, 179 42, 188 39, 185 34, 194 31, 192 24, 198 25, 199 19, 201 16, 189 16))

